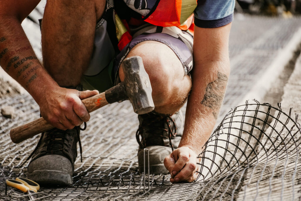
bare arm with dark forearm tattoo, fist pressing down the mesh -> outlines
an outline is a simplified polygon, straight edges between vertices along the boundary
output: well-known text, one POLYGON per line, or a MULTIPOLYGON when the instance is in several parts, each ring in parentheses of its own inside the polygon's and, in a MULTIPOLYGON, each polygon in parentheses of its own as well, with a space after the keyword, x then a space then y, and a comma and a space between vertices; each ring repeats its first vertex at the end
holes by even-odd
POLYGON ((194 181, 197 155, 209 139, 225 94, 230 73, 228 38, 231 24, 194 28, 194 69, 188 97, 184 132, 179 144, 164 160, 171 182, 194 181))

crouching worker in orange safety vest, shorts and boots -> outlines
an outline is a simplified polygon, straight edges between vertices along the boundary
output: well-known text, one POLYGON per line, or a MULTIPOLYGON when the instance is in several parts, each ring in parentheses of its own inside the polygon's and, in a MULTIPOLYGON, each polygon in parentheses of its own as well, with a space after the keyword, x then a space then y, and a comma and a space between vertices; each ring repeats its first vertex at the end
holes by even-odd
POLYGON ((139 169, 148 148, 151 173, 169 172, 171 182, 194 181, 197 156, 216 123, 229 77, 235 1, 47 1, 42 64, 21 27, 39 2, 0 4, 0 65, 55 127, 42 133, 29 155, 28 178, 53 186, 72 183, 78 142, 82 150, 80 125, 90 119, 81 100, 122 82, 121 62, 140 56, 155 109, 138 115, 139 169), (180 108, 186 100, 184 121, 180 108))

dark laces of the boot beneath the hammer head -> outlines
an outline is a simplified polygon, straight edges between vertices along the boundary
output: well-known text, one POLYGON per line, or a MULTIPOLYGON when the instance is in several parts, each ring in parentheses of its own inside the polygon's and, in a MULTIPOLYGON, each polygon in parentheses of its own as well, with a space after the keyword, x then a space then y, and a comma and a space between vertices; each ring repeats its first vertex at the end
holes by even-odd
MULTIPOLYGON (((177 135, 177 127, 175 124, 175 121, 171 117, 172 115, 166 116, 161 114, 149 115, 144 118, 144 121, 141 125, 139 125, 139 128, 136 132, 136 139, 141 148, 146 147, 146 136, 143 133, 149 133, 147 140, 154 143, 157 141, 156 139, 169 139, 169 145, 164 146, 170 146, 172 151, 174 150, 173 144, 172 144, 172 137, 176 137, 177 135), (167 124, 167 129, 163 126, 162 122, 164 122, 163 125, 167 124), (172 129, 173 125, 173 129, 172 129), (144 131, 144 132, 143 132, 144 131), (163 133, 167 132, 167 136, 163 133), (141 140, 140 140, 141 136, 141 140)), ((156 144, 156 143, 154 143, 156 144)))

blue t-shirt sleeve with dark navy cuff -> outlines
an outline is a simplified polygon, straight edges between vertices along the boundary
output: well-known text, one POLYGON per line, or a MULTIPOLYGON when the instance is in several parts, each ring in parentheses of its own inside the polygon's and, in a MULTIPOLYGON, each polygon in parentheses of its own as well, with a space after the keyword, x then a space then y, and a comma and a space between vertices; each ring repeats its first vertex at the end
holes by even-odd
POLYGON ((222 27, 233 20, 235 0, 198 0, 194 24, 202 28, 222 27))

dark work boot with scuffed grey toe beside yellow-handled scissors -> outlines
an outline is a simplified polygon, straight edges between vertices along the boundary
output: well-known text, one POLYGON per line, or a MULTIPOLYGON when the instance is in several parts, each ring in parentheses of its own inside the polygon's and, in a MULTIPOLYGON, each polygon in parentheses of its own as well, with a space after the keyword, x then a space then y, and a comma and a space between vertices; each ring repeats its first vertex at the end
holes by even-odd
POLYGON ((79 127, 70 130, 53 128, 42 133, 36 149, 30 155, 32 159, 28 165, 27 177, 47 186, 72 184, 77 142, 82 154, 79 131, 79 127))

